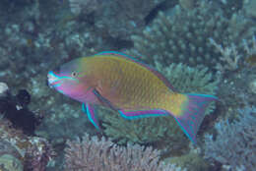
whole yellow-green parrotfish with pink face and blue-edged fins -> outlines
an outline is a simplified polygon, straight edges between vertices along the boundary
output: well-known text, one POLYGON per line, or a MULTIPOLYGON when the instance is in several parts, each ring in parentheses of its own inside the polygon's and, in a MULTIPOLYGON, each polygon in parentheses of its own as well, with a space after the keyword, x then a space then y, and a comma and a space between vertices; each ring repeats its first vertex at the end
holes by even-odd
POLYGON ((82 103, 97 130, 96 106, 117 111, 128 120, 172 116, 188 139, 196 135, 215 95, 179 93, 153 67, 121 52, 104 51, 74 59, 49 71, 48 85, 82 103))

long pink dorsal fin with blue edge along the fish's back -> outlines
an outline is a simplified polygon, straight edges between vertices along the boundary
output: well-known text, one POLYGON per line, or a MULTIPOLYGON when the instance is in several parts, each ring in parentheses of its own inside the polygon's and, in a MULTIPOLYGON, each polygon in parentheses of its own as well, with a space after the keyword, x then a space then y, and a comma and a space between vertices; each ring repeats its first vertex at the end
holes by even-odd
POLYGON ((124 53, 121 53, 121 52, 116 52, 116 51, 103 51, 103 52, 100 52, 100 53, 97 53, 96 55, 113 55, 113 56, 118 56, 118 57, 121 57, 121 58, 125 58, 127 60, 130 60, 130 61, 133 61, 145 68, 147 68, 148 70, 150 70, 151 72, 153 72, 156 76, 158 76, 158 78, 160 78, 160 80, 166 85, 169 87, 169 89, 171 89, 172 91, 175 91, 175 88, 170 85, 170 83, 168 82, 168 80, 162 76, 162 74, 160 74, 159 71, 155 70, 154 68, 152 68, 151 66, 139 61, 138 59, 134 58, 134 57, 131 57, 129 55, 126 55, 124 53))

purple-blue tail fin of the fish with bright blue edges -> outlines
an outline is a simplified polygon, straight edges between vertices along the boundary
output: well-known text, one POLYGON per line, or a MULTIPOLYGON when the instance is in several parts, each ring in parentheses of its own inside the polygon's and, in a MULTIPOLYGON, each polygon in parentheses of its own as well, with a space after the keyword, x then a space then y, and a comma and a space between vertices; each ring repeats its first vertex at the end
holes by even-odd
POLYGON ((205 110, 211 101, 218 98, 214 95, 206 94, 186 94, 188 102, 179 116, 174 116, 175 120, 180 125, 183 132, 196 143, 197 131, 205 117, 205 110))

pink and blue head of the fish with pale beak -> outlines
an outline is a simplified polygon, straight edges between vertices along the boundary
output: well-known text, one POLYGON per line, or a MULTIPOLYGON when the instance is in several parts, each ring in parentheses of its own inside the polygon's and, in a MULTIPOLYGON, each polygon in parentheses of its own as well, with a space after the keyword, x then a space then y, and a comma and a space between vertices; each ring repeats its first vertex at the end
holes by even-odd
POLYGON ((84 95, 83 93, 89 89, 89 85, 85 82, 86 72, 82 69, 80 59, 68 62, 57 70, 48 72, 48 85, 65 95, 79 100, 84 95))

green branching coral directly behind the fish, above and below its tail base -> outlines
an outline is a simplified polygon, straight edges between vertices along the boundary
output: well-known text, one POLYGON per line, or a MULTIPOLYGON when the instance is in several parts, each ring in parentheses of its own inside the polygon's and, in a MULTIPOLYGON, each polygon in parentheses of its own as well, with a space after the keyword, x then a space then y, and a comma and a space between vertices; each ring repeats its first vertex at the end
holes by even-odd
MULTIPOLYGON (((215 93, 218 81, 212 81, 213 76, 206 68, 190 68, 182 64, 162 68, 159 63, 156 66, 180 92, 215 93)), ((189 142, 173 117, 125 120, 118 113, 100 111, 104 133, 115 142, 153 143, 171 149, 177 148, 180 143, 186 146, 189 142)))

